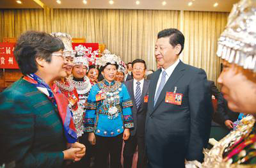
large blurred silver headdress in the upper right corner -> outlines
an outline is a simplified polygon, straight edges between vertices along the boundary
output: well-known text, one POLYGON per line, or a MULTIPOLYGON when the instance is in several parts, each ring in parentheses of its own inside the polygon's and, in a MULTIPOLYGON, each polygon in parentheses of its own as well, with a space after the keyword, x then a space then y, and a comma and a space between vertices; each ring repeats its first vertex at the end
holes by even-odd
POLYGON ((256 72, 256 0, 234 4, 218 41, 217 56, 256 72))

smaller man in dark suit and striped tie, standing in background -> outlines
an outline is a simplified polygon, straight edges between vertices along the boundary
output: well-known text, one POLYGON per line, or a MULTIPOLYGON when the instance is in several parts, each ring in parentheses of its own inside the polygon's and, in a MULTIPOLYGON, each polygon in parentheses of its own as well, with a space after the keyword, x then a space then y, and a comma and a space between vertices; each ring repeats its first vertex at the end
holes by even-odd
POLYGON ((142 59, 135 59, 132 62, 132 74, 134 79, 125 82, 133 103, 132 116, 134 130, 131 130, 131 137, 125 141, 124 146, 124 168, 132 167, 132 158, 138 145, 137 167, 146 167, 145 155, 145 119, 147 114, 148 86, 149 80, 144 79, 147 65, 142 59))

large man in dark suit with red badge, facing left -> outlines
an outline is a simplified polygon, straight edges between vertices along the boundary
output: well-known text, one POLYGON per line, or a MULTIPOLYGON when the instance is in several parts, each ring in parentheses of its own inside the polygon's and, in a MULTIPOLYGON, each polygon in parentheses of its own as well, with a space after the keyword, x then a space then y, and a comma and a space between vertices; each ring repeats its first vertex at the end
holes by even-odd
POLYGON ((148 168, 185 167, 186 160, 202 162, 209 136, 212 103, 204 70, 179 60, 184 35, 164 29, 157 35, 155 57, 161 66, 148 88, 145 142, 148 168), (175 97, 180 95, 181 98, 175 97))

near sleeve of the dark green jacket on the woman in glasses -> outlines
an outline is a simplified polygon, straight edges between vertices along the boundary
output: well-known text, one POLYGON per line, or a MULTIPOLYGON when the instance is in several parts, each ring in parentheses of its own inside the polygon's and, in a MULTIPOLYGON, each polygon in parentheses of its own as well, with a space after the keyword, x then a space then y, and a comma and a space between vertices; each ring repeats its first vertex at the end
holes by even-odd
POLYGON ((29 105, 27 96, 18 91, 0 94, 0 165, 3 162, 12 162, 15 167, 63 165, 62 151, 33 152, 36 125, 34 108, 29 105))

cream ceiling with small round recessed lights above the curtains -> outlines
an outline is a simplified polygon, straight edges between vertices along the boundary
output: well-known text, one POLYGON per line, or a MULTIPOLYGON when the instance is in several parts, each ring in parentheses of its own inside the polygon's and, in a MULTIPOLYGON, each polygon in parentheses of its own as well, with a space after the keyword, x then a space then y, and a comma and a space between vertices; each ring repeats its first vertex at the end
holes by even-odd
MULTIPOLYGON (((33 0, 20 0, 22 4, 17 4, 15 0, 0 0, 0 8, 40 8, 33 0)), ((61 0, 61 4, 56 0, 41 0, 50 8, 97 8, 97 9, 142 9, 142 10, 195 10, 195 11, 230 11, 232 5, 239 0, 113 0, 114 4, 109 4, 109 0, 61 0), (162 2, 166 1, 163 6, 162 2), (192 6, 188 6, 193 2, 192 6), (214 8, 213 4, 219 5, 214 8)))

